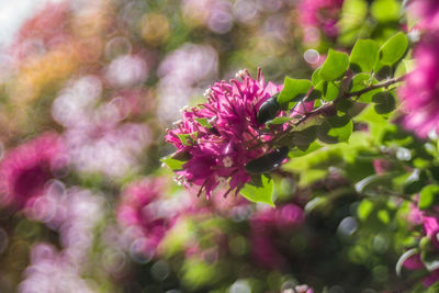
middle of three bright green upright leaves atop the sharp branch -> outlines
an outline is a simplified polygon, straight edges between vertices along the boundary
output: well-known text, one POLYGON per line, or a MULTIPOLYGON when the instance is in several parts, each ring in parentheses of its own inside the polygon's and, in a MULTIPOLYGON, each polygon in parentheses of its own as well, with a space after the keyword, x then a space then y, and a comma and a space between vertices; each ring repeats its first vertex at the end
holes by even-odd
POLYGON ((354 71, 372 71, 379 57, 379 46, 372 40, 359 40, 349 57, 350 68, 354 71))

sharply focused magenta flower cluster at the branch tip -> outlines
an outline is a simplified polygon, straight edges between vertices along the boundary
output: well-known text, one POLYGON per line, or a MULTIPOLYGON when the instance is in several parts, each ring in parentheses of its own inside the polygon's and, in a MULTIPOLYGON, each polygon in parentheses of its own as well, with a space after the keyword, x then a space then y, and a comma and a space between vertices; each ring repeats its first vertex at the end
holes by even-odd
POLYGON ((268 151, 271 135, 261 134, 263 125, 257 121, 261 104, 281 90, 281 86, 266 83, 258 72, 255 80, 241 71, 241 81, 221 81, 211 87, 207 102, 183 111, 177 127, 168 129, 166 140, 190 159, 178 171, 183 184, 200 185, 210 198, 212 191, 230 178, 229 189, 236 193, 250 181, 245 166, 268 151), (184 143, 182 140, 185 140, 184 143))

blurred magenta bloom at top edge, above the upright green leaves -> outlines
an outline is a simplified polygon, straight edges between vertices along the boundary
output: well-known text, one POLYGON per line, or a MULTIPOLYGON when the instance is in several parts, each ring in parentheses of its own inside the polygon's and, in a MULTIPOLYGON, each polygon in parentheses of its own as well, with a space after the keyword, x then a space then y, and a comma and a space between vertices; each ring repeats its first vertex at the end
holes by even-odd
POLYGON ((344 0, 303 0, 297 7, 300 24, 305 32, 307 27, 315 27, 329 37, 337 36, 337 21, 342 3, 344 0))

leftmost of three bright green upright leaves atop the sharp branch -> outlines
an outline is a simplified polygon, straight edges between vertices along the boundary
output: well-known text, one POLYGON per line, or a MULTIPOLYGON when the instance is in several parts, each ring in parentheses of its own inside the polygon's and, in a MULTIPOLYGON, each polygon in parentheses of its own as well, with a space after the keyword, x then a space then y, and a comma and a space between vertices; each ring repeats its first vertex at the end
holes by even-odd
POLYGON ((329 49, 328 57, 320 69, 320 77, 323 80, 333 81, 341 78, 348 68, 348 54, 329 49))

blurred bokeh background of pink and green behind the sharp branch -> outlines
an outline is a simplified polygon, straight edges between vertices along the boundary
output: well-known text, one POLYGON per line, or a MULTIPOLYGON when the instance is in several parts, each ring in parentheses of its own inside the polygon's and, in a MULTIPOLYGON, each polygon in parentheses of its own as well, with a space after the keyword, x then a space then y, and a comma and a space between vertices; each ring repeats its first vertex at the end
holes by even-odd
POLYGON ((275 209, 224 190, 199 199, 159 159, 173 151, 165 129, 216 80, 257 67, 275 83, 308 78, 329 47, 382 43, 404 27, 401 8, 0 1, 0 292, 398 289, 408 205, 363 201, 334 167, 374 172, 351 158, 370 145, 349 158, 326 149, 303 171, 291 165, 278 174, 275 209))

